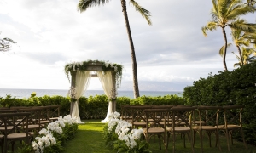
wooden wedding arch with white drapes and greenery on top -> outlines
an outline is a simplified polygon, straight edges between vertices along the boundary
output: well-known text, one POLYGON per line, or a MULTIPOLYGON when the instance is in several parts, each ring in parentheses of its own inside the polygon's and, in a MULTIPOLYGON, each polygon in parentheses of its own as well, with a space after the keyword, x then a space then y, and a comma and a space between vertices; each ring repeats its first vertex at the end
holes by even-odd
POLYGON ((123 66, 108 61, 87 60, 65 65, 65 73, 71 87, 68 94, 71 97, 70 115, 76 116, 79 123, 79 98, 89 86, 91 77, 99 77, 104 93, 108 96, 108 112, 102 122, 108 122, 108 116, 116 111, 117 88, 121 83, 123 66), (94 74, 92 72, 95 72, 94 74))

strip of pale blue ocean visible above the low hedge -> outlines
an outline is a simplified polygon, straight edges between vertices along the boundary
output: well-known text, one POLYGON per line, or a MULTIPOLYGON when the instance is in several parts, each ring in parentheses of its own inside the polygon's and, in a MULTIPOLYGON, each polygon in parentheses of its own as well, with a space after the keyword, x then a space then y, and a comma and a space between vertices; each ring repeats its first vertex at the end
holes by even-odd
MULTIPOLYGON (((6 95, 11 95, 12 97, 16 97, 18 99, 29 98, 31 94, 35 92, 36 96, 42 97, 44 95, 54 96, 67 96, 68 90, 61 89, 15 89, 15 88, 0 88, 0 97, 5 98, 6 95)), ((87 90, 84 93, 85 97, 96 96, 104 94, 103 90, 87 90)), ((182 96, 183 91, 140 91, 140 96, 165 96, 167 94, 177 94, 178 96, 182 96)), ((117 97, 129 97, 133 99, 133 91, 118 91, 117 97)))

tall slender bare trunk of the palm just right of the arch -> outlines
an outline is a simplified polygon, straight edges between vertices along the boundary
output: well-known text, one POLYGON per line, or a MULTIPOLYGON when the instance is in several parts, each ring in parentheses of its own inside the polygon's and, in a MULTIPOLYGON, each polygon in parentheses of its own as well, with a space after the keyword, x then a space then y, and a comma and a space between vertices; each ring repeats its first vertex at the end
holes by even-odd
POLYGON ((121 0, 121 4, 122 4, 122 12, 125 17, 125 26, 126 26, 126 30, 128 33, 130 47, 131 47, 131 61, 132 61, 132 72, 133 72, 133 94, 134 94, 134 98, 137 99, 140 96, 140 94, 139 94, 138 83, 137 83, 137 62, 136 62, 135 50, 134 50, 132 37, 131 37, 131 29, 130 29, 130 24, 129 24, 129 20, 128 20, 128 14, 126 11, 126 1, 121 0))

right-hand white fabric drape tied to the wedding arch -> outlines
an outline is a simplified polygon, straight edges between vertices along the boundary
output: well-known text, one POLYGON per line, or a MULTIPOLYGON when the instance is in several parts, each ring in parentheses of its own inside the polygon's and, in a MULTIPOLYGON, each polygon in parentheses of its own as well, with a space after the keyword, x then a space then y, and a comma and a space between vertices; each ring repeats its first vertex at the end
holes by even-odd
MULTIPOLYGON (((104 89, 104 93, 108 96, 108 99, 111 99, 111 89, 113 88, 112 82, 112 73, 111 71, 103 72, 97 71, 97 76, 99 77, 100 82, 102 83, 102 88, 104 89)), ((102 122, 108 122, 108 116, 112 113, 112 101, 108 102, 108 112, 107 116, 102 122)))

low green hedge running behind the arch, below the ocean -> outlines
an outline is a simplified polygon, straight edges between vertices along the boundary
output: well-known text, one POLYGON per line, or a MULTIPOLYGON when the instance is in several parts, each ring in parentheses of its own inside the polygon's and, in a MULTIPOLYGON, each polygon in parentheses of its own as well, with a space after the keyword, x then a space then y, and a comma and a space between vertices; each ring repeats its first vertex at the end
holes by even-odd
MULTIPOLYGON (((116 99, 116 111, 120 112, 121 105, 184 105, 185 100, 177 95, 166 95, 159 97, 142 96, 138 99, 118 97, 116 99)), ((28 99, 16 99, 11 95, 6 98, 0 97, 0 107, 11 106, 40 106, 61 105, 61 116, 70 112, 70 98, 62 96, 36 97, 36 94, 28 99)), ((81 119, 104 119, 108 111, 108 97, 106 95, 81 97, 79 99, 79 115, 81 119)))

